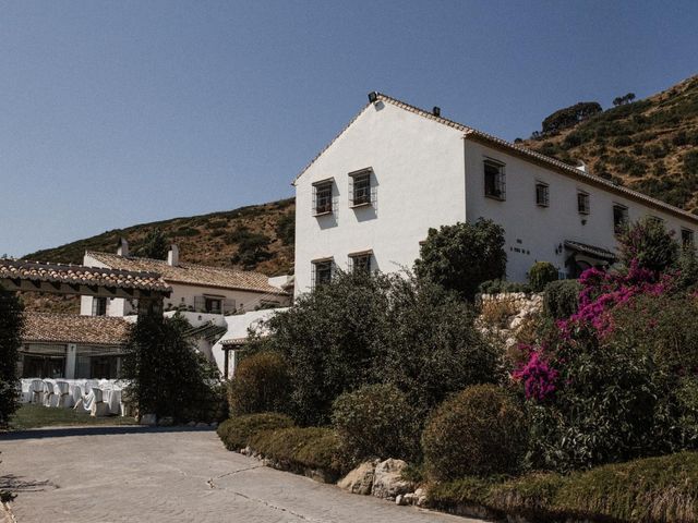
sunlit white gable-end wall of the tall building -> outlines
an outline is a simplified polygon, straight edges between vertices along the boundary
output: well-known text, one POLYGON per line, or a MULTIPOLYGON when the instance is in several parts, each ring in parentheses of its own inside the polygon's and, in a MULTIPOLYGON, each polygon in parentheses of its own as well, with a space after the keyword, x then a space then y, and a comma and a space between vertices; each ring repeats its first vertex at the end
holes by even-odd
POLYGON ((411 268, 430 227, 466 219, 462 133, 382 101, 369 106, 296 182, 296 294, 312 260, 373 250, 383 272, 411 268), (377 205, 351 209, 348 173, 372 167, 377 205), (313 182, 334 178, 335 212, 313 216, 313 182))

